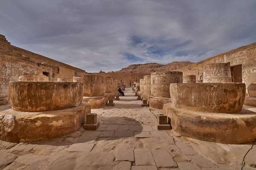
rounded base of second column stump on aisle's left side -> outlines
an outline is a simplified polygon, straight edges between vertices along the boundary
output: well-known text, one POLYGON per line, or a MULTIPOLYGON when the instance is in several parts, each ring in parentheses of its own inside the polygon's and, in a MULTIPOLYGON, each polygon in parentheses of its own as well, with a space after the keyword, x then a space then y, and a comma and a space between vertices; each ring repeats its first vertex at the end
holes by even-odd
POLYGON ((83 102, 88 102, 91 108, 104 108, 108 103, 108 95, 83 97, 83 102))

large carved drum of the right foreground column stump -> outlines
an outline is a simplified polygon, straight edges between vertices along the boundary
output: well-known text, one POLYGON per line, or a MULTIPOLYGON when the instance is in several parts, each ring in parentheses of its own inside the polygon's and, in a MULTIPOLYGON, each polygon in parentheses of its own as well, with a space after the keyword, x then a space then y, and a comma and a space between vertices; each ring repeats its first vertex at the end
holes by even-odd
POLYGON ((209 113, 239 113, 244 104, 244 83, 171 84, 176 108, 209 113))

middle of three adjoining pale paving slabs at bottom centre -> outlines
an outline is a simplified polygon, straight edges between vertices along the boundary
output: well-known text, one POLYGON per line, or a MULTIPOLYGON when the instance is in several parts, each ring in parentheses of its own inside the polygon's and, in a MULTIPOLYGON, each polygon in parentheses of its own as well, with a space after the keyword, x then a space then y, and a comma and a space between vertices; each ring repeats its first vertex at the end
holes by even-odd
POLYGON ((134 157, 136 165, 155 165, 154 157, 151 150, 134 149, 134 157))

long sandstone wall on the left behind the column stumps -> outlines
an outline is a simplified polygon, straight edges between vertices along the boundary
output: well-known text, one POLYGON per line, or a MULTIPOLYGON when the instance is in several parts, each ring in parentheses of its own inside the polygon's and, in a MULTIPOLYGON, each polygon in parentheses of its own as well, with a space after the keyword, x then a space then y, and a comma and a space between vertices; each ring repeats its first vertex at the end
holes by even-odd
POLYGON ((57 81, 57 78, 73 78, 78 72, 85 73, 84 70, 71 65, 15 47, 0 34, 0 105, 9 102, 9 81, 17 81, 24 73, 36 71, 47 74, 50 81, 57 81))

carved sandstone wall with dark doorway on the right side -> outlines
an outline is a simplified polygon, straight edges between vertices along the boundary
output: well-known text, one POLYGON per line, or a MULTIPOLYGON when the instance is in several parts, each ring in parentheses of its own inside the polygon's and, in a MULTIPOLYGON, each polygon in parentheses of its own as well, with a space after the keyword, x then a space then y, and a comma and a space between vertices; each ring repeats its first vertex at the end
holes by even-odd
MULTIPOLYGON (((197 82, 200 82, 203 80, 204 66, 209 63, 218 62, 230 62, 233 82, 239 82, 239 74, 241 74, 241 82, 245 83, 246 88, 248 85, 256 83, 256 42, 205 59, 201 62, 192 63, 176 71, 182 71, 184 76, 191 74, 196 75, 197 82), (234 68, 241 73, 234 73, 234 68), (236 78, 236 76, 238 76, 238 78, 236 78)), ((247 91, 246 94, 248 95, 247 91)))

